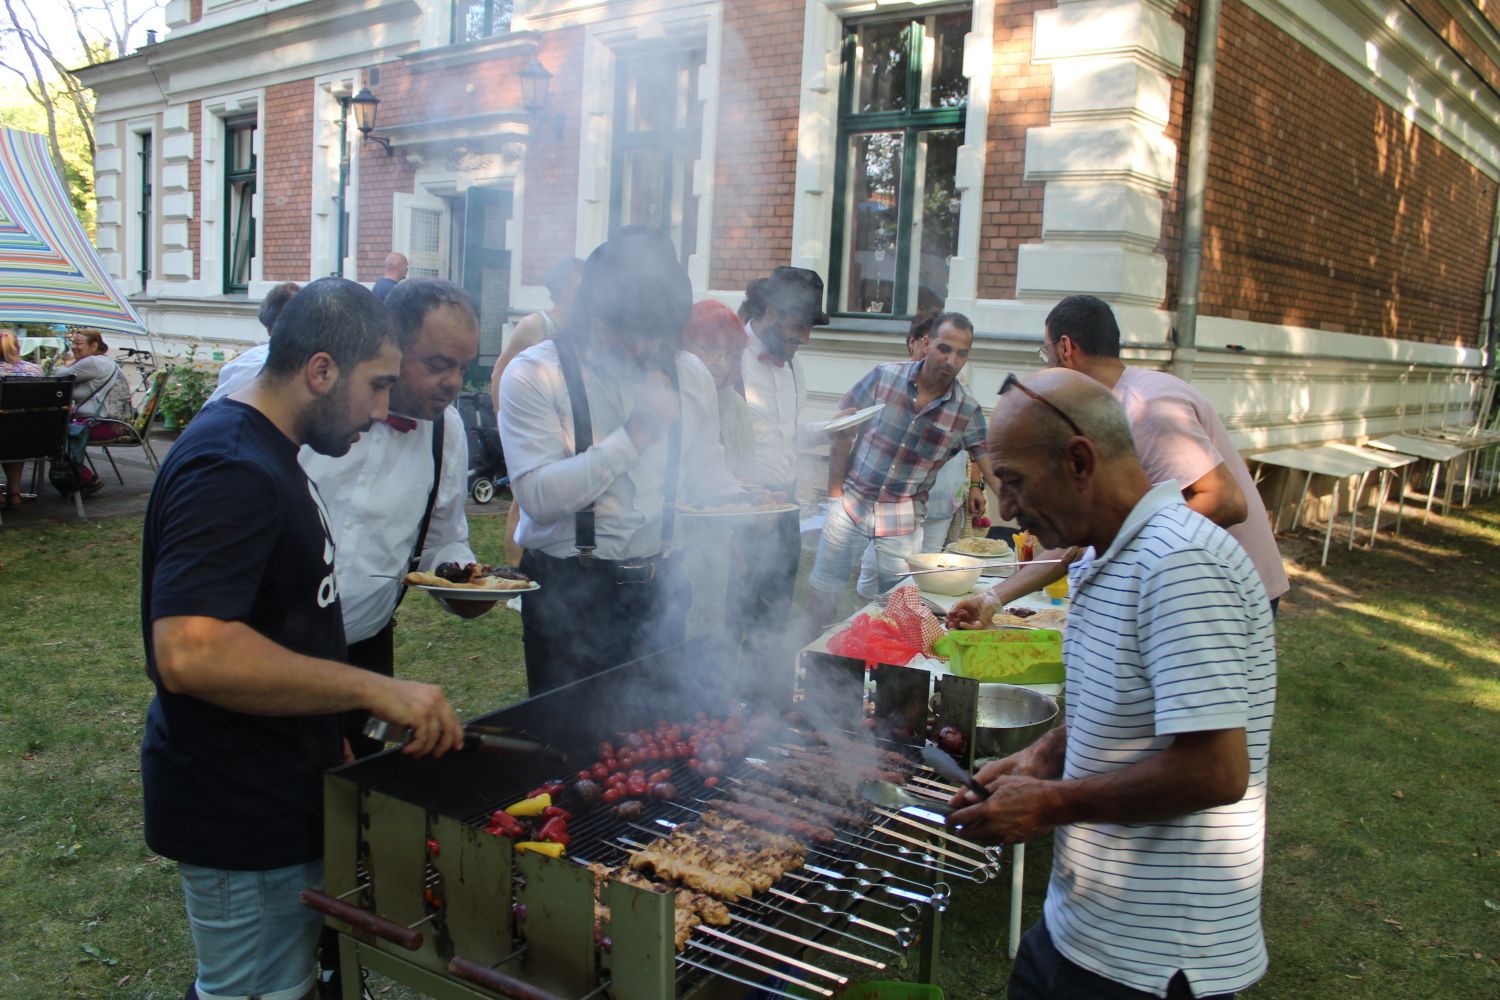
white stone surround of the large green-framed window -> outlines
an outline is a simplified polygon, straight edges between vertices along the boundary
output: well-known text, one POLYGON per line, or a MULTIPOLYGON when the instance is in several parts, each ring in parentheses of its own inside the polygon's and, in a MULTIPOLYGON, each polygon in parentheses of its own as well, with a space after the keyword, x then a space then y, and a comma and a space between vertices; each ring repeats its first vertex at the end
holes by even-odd
MULTIPOLYGON (((832 259, 834 169, 838 157, 838 81, 843 73, 843 22, 862 13, 920 12, 942 0, 872 4, 868 0, 808 0, 802 22, 802 88, 796 123, 796 177, 792 204, 790 264, 828 280, 832 259)), ((958 147, 958 247, 948 261, 948 307, 970 312, 978 297, 980 229, 984 220, 984 150, 990 124, 994 64, 994 0, 974 0, 963 45, 969 106, 958 147)), ((744 292, 734 292, 742 295, 744 292)), ((716 292, 717 295, 717 292, 716 292)))

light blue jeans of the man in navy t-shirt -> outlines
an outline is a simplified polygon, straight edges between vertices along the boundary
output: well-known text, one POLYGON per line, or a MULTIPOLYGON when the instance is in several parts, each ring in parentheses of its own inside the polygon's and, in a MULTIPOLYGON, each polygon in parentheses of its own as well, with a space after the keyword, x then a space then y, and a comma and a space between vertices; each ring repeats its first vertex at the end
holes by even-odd
POLYGON ((178 871, 200 1000, 302 1000, 312 990, 322 916, 297 894, 322 886, 322 861, 272 871, 178 871))

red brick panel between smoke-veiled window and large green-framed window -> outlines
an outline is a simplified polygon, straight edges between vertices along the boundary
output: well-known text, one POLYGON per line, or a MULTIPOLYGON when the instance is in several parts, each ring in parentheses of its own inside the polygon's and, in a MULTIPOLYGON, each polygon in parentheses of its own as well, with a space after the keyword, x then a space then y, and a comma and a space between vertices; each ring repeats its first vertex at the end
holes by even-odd
POLYGON ((792 259, 802 13, 784 0, 726 0, 718 75, 712 268, 742 289, 792 259))

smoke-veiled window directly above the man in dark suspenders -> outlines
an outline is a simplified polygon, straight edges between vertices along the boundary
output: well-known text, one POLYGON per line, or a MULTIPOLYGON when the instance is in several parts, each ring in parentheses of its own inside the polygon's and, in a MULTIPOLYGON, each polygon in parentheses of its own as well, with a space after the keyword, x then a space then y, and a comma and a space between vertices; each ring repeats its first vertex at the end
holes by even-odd
POLYGON ((693 165, 704 138, 698 72, 704 49, 621 55, 615 81, 609 232, 666 229, 686 264, 698 250, 693 165))

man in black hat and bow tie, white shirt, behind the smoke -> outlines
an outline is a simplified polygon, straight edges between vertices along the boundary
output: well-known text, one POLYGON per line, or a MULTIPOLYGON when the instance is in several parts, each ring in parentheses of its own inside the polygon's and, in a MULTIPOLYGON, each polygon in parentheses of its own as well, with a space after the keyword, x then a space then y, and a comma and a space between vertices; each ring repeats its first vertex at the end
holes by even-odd
MULTIPOLYGON (((740 318, 750 334, 740 370, 754 436, 753 481, 796 499, 798 451, 826 439, 804 418, 807 378, 796 358, 813 327, 828 322, 824 279, 806 267, 778 267, 750 282, 740 318)), ((772 667, 790 661, 786 622, 801 555, 798 511, 780 516, 770 531, 742 547, 744 597, 730 609, 730 624, 750 661, 772 667)))

